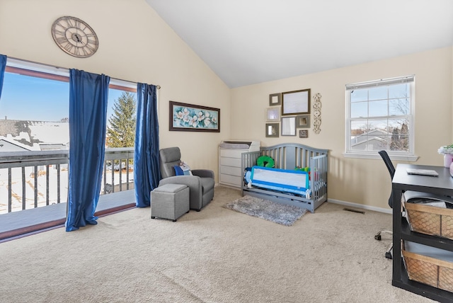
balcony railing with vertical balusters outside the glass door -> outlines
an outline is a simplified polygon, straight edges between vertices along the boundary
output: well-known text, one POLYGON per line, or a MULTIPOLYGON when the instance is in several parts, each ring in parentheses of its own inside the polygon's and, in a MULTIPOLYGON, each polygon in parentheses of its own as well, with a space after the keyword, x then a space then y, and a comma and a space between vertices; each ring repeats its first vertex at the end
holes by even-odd
MULTIPOLYGON (((101 195, 134 188, 134 148, 105 149, 101 195)), ((69 150, 0 154, 0 214, 67 202, 69 150)))

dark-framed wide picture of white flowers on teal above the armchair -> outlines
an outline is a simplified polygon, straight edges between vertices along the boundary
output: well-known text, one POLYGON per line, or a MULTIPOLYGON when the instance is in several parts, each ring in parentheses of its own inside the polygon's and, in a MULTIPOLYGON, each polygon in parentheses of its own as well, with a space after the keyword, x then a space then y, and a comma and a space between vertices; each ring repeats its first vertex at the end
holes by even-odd
POLYGON ((186 132, 220 132, 220 108, 169 102, 169 129, 186 132))

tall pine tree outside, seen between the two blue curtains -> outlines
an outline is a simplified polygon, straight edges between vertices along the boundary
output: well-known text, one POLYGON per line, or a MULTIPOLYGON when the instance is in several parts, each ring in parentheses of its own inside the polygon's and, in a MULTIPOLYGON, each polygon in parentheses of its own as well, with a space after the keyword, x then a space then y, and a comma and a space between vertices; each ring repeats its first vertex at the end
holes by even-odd
POLYGON ((113 105, 113 115, 108 118, 108 147, 134 147, 135 99, 132 93, 123 92, 113 105))

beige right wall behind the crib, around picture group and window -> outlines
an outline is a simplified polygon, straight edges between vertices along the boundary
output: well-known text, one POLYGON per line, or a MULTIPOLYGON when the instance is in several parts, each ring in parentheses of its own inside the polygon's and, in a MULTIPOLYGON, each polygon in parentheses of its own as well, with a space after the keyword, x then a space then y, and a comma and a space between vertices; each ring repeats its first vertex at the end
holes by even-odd
MULTIPOLYGON (((298 142, 330 149, 328 198, 388 210, 391 183, 381 159, 350 159, 345 151, 345 84, 415 74, 416 164, 442 165, 437 149, 452 142, 452 48, 332 69, 231 90, 231 136, 270 146, 298 142), (269 94, 311 88, 321 93, 321 133, 307 139, 265 137, 269 94)), ((313 100, 311 100, 313 102, 313 100)), ((313 117, 311 117, 313 118, 313 117)), ((398 163, 398 162, 396 162, 398 163)))

